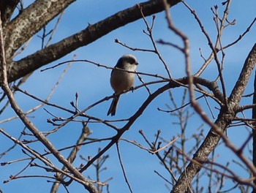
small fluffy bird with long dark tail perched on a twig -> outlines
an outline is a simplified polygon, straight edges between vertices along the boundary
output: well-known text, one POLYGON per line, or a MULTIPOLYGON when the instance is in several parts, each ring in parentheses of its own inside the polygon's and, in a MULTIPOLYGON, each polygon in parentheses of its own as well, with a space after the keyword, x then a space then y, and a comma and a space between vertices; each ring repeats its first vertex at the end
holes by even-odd
POLYGON ((129 88, 132 88, 135 82, 135 73, 126 72, 119 69, 135 72, 137 65, 137 59, 135 58, 135 56, 132 56, 131 54, 126 54, 118 59, 117 64, 115 68, 112 70, 110 76, 110 84, 113 90, 115 91, 115 96, 113 97, 113 101, 111 102, 110 108, 108 110, 108 116, 110 114, 111 116, 116 115, 116 107, 121 92, 126 91, 129 88))

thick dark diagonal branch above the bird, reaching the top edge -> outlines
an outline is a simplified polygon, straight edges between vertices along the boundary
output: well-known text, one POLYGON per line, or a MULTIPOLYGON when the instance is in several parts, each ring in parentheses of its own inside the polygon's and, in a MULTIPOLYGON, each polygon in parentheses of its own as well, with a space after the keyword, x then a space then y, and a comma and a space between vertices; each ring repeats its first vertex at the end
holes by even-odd
MULTIPOLYGON (((168 0, 168 3, 171 7, 177 4, 179 1, 180 0, 168 0)), ((161 12, 165 9, 162 4, 162 0, 146 1, 141 3, 140 7, 142 7, 143 14, 145 16, 161 12)), ((142 18, 142 15, 137 5, 130 7, 127 10, 117 12, 115 15, 112 15, 105 20, 101 20, 94 25, 88 26, 86 29, 78 32, 77 34, 73 34, 72 36, 63 39, 56 44, 48 46, 48 48, 39 50, 37 53, 27 56, 20 61, 13 62, 11 69, 9 69, 8 80, 10 82, 17 80, 18 78, 33 72, 35 69, 38 69, 45 64, 56 61, 77 48, 84 45, 89 45, 96 39, 110 33, 110 31, 118 29, 127 23, 132 23, 140 18, 142 18)))

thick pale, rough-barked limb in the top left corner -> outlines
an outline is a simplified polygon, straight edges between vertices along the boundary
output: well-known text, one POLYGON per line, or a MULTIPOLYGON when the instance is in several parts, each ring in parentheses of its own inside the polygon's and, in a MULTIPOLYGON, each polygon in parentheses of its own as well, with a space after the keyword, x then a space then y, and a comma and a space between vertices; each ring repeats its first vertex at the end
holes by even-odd
POLYGON ((4 28, 5 53, 10 61, 21 45, 75 0, 37 0, 4 28))

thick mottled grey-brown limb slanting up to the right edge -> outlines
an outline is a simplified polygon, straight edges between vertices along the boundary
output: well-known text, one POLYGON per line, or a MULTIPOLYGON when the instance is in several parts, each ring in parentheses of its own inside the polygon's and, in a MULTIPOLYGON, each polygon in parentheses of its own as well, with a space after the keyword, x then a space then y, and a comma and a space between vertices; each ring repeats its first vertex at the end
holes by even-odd
POLYGON ((252 69, 256 64, 256 44, 250 51, 246 61, 244 62, 244 67, 241 71, 240 76, 238 77, 236 86, 233 88, 232 93, 228 99, 228 107, 222 107, 215 121, 215 126, 211 128, 210 132, 206 136, 206 139, 203 141, 200 148, 193 156, 195 162, 190 162, 185 171, 181 174, 180 178, 173 190, 171 192, 186 192, 189 184, 192 182, 195 175, 200 171, 201 165, 206 162, 208 155, 216 148, 221 136, 217 134, 215 128, 218 128, 218 131, 224 132, 227 129, 227 126, 233 121, 233 118, 236 117, 236 110, 238 103, 241 100, 241 96, 244 93, 246 84, 248 83, 249 77, 252 74, 252 69), (197 164, 200 163, 200 164, 197 164), (186 182, 186 183, 185 183, 186 182))

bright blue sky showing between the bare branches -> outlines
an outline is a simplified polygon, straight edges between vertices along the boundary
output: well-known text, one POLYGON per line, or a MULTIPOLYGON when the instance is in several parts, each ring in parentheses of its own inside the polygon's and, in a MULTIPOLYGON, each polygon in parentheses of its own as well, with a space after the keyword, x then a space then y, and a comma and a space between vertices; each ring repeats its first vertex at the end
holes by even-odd
MULTIPOLYGON (((25 4, 29 4, 31 1, 26 1, 25 4)), ((222 15, 223 7, 221 5, 222 1, 187 1, 187 3, 197 12, 197 15, 200 17, 203 25, 205 26, 208 34, 210 34, 213 41, 216 39, 216 27, 214 26, 214 21, 212 20, 212 12, 210 7, 213 7, 214 4, 218 4, 219 6, 219 15, 222 15)), ((64 16, 59 24, 59 28, 56 31, 55 36, 53 37, 54 42, 58 42, 64 37, 68 37, 71 34, 74 34, 82 29, 85 29, 88 26, 88 23, 97 23, 97 21, 102 20, 110 15, 115 14, 120 10, 124 10, 127 7, 131 7, 132 5, 138 3, 138 1, 76 1, 74 4, 69 6, 64 13, 64 16), (106 8, 108 7, 108 8, 106 8)), ((229 19, 236 19, 236 25, 230 26, 226 29, 223 34, 223 45, 226 45, 229 42, 233 42, 233 40, 237 39, 239 34, 242 34, 244 30, 249 26, 249 23, 255 18, 255 6, 256 2, 254 0, 244 1, 241 4, 240 1, 233 1, 230 7, 230 16, 229 19)), ((197 69, 203 64, 203 59, 200 58, 199 48, 202 49, 204 56, 208 56, 208 53, 211 51, 208 48, 206 37, 200 31, 195 18, 190 14, 189 10, 184 7, 182 4, 178 4, 171 9, 171 15, 173 18, 173 22, 184 31, 185 34, 190 39, 191 45, 191 60, 192 60, 192 70, 196 72, 197 69)), ((147 18, 148 23, 151 23, 151 17, 147 18)), ((49 23, 47 27, 48 30, 52 29, 55 25, 56 20, 49 23)), ((152 74, 159 74, 163 76, 167 76, 163 65, 159 62, 159 59, 153 53, 145 53, 145 52, 132 52, 127 48, 122 47, 114 42, 114 39, 119 39, 121 42, 126 43, 127 45, 134 48, 150 48, 152 49, 152 45, 150 39, 143 34, 143 30, 146 29, 145 23, 143 20, 138 20, 134 23, 129 23, 127 26, 124 26, 120 29, 110 32, 105 37, 98 39, 96 42, 92 42, 90 45, 86 47, 79 48, 78 50, 73 51, 69 55, 64 58, 59 59, 59 61, 55 61, 52 64, 49 64, 48 67, 58 64, 62 61, 67 61, 72 59, 72 56, 77 55, 77 59, 87 59, 90 61, 95 61, 100 64, 105 64, 107 66, 113 67, 116 64, 118 58, 125 53, 132 53, 138 58, 139 72, 147 72, 152 74)), ((226 58, 225 58, 225 70, 224 70, 224 78, 226 80, 227 86, 227 94, 230 94, 231 89, 236 83, 236 79, 239 75, 241 67, 244 64, 244 60, 249 53, 249 50, 252 48, 252 45, 255 43, 255 26, 252 27, 249 34, 238 42, 233 48, 228 48, 225 50, 226 58)), ((39 32, 42 34, 42 32, 39 32)), ((172 31, 167 29, 167 23, 165 20, 165 14, 159 13, 157 14, 157 18, 155 20, 155 26, 153 30, 154 38, 164 39, 166 41, 170 41, 173 43, 181 44, 181 40, 173 34, 172 31)), ((157 45, 159 51, 161 52, 165 61, 170 68, 170 72, 173 77, 184 77, 185 66, 184 66, 184 57, 183 55, 175 50, 174 48, 169 48, 163 45, 157 45)), ((29 45, 29 47, 15 59, 23 58, 29 53, 34 53, 35 50, 38 50, 41 47, 39 42, 39 38, 34 37, 29 45)), ((45 67, 42 67, 44 69, 45 67)), ((29 78, 29 80, 24 84, 21 88, 28 91, 31 94, 38 96, 39 98, 45 99, 50 93, 50 89, 53 87, 54 83, 59 79, 65 65, 61 67, 57 67, 56 69, 50 69, 45 72, 34 72, 33 75, 29 78)), ((217 67, 216 64, 212 63, 203 73, 203 77, 206 77, 210 80, 214 80, 217 76, 217 67)), ((67 107, 72 109, 69 105, 69 102, 75 100, 75 93, 79 94, 79 105, 78 107, 83 110, 94 102, 97 102, 99 99, 104 98, 105 96, 110 96, 113 94, 112 89, 109 84, 110 77, 110 69, 104 69, 100 67, 96 67, 93 64, 88 63, 78 63, 75 62, 72 64, 72 67, 68 70, 68 72, 64 75, 64 78, 61 80, 58 88, 56 88, 55 93, 50 99, 51 103, 67 107)), ((150 81, 155 80, 151 77, 143 77, 143 80, 150 81)), ((139 85, 139 80, 136 80, 135 86, 139 85)), ((249 83, 248 93, 252 92, 252 80, 249 83)), ((151 86, 152 91, 154 91, 159 85, 151 86)), ((176 102, 178 105, 180 104, 180 99, 183 94, 183 89, 178 88, 173 91, 173 94, 176 96, 176 102)), ((39 104, 39 102, 30 99, 28 96, 24 96, 23 94, 15 95, 18 105, 26 110, 31 109, 39 104)), ((123 94, 121 96, 121 100, 118 105, 118 110, 116 116, 114 118, 107 117, 106 113, 108 112, 108 107, 110 105, 110 101, 103 102, 100 105, 97 105, 93 109, 89 110, 91 116, 98 116, 102 119, 115 119, 115 118, 127 118, 132 116, 138 107, 140 107, 141 103, 146 99, 147 92, 146 89, 141 88, 139 90, 129 92, 128 94, 123 94)), ((210 100, 211 102, 211 100, 210 100)), ((161 129, 162 137, 165 137, 167 140, 170 140, 172 137, 176 137, 180 134, 178 126, 173 124, 173 122, 177 121, 176 118, 170 116, 167 113, 162 113, 157 110, 157 107, 161 107, 162 109, 167 109, 165 104, 170 105, 170 98, 168 93, 164 93, 161 96, 157 97, 151 105, 148 106, 146 111, 143 113, 140 118, 135 122, 134 125, 129 129, 127 133, 124 134, 124 138, 129 140, 136 140, 142 145, 146 145, 145 141, 143 141, 142 137, 138 134, 138 130, 143 129, 146 133, 146 136, 150 140, 154 140, 154 134, 158 129, 161 129)), ((244 100, 244 104, 249 104, 250 100, 244 100)), ((200 101, 200 104, 203 105, 206 113, 208 112, 208 108, 205 105, 203 100, 200 101)), ((211 104, 215 107, 216 103, 211 102, 211 104)), ((213 107, 213 110, 214 110, 213 107)), ((47 110, 53 113, 55 116, 67 118, 70 116, 67 113, 62 112, 61 110, 55 109, 53 107, 45 106, 47 110)), ((192 112, 192 111, 191 111, 192 112)), ((246 112, 249 116, 250 111, 246 112)), ((12 110, 8 110, 2 118, 7 118, 13 116, 12 110)), ((217 116, 217 110, 214 110, 214 115, 217 116)), ((41 131, 48 131, 53 129, 54 127, 50 124, 46 123, 47 118, 52 118, 48 113, 43 109, 39 109, 36 113, 31 114, 31 121, 34 121, 34 124, 41 131)), ((189 128, 187 129, 187 136, 197 133, 197 127, 203 124, 203 121, 195 115, 189 121, 189 128)), ((117 126, 122 126, 124 123, 118 123, 117 126)), ((19 132, 17 130, 22 130, 23 125, 20 124, 20 121, 12 121, 12 125, 10 124, 2 124, 2 128, 5 128, 7 132, 17 137, 19 132)), ((93 134, 91 137, 110 137, 115 132, 112 129, 108 128, 103 124, 89 124, 89 128, 93 130, 93 134)), ((204 134, 208 132, 208 126, 204 125, 205 129, 204 134)), ((67 145, 72 145, 76 142, 78 135, 80 134, 80 124, 68 124, 64 128, 60 129, 55 135, 50 135, 49 139, 56 145, 56 148, 63 148, 67 145)), ((243 142, 247 133, 245 132, 244 127, 238 128, 233 127, 228 130, 228 134, 230 140, 239 145, 243 142), (245 137, 238 137, 244 135, 245 137)), ((7 140, 3 136, 0 136, 1 141, 3 142, 0 148, 0 151, 4 151, 12 143, 10 140, 7 140)), ((26 137, 27 139, 27 137, 26 137)), ((39 148, 38 144, 31 145, 34 148, 39 148)), ((80 154, 83 156, 94 156, 97 153, 97 149, 99 147, 104 148, 106 143, 98 143, 96 145, 84 146, 80 150, 80 154)), ((132 189, 134 192, 168 192, 165 187, 165 181, 163 181, 159 176, 154 173, 154 170, 157 170, 159 173, 164 175, 166 178, 169 178, 169 175, 165 172, 164 168, 159 164, 159 160, 157 157, 151 154, 148 154, 146 151, 142 151, 135 147, 134 145, 127 144, 125 142, 120 143, 121 148, 121 156, 124 162, 124 167, 127 170, 127 177, 129 178, 129 182, 131 183, 132 189), (140 181, 140 182, 138 182, 140 181), (154 184, 152 182, 154 181, 154 184)), ((40 149, 40 148, 39 148, 40 149)), ((40 150, 42 151, 43 148, 40 150)), ((64 155, 67 156, 69 151, 65 151, 64 155)), ((221 155, 221 151, 217 151, 218 154, 221 155)), ((102 181, 107 178, 113 177, 113 180, 110 181, 110 192, 129 192, 127 185, 124 181, 124 177, 121 173, 120 164, 118 163, 118 157, 116 153, 116 147, 113 146, 107 152, 110 154, 110 159, 106 162, 106 166, 108 170, 102 173, 102 181)), ((225 154, 233 156, 233 154, 225 148, 225 154)), ((223 155, 222 155, 223 156, 223 155)), ((219 156, 222 158, 222 156, 219 156)), ((20 157, 25 157, 20 151, 20 148, 16 147, 14 150, 10 152, 7 156, 1 160, 1 162, 10 161, 12 159, 18 159, 20 157)), ((229 157, 229 156, 227 156, 229 157)), ((234 156, 236 157, 236 156, 234 156)), ((51 157, 50 157, 51 158, 51 157)), ((225 159, 225 158, 224 158, 225 159)), ((75 165, 78 166, 81 162, 80 159, 77 159, 75 165)), ((217 162, 220 162, 217 159, 217 162)), ((23 168, 23 164, 26 165, 26 162, 18 162, 16 164, 10 164, 9 166, 1 167, 0 170, 0 181, 4 181, 8 178, 9 175, 13 175, 17 173, 19 170, 23 168)), ((56 163, 58 166, 58 164, 56 163)), ((26 171, 26 174, 40 174, 42 170, 38 168, 31 168, 26 171)), ((241 170, 238 170, 238 173, 241 173, 241 170)), ((94 169, 91 168, 84 173, 87 177, 88 175, 91 178, 95 177, 94 169)), ((228 186, 228 184, 227 184, 228 186)), ((37 178, 27 179, 25 182, 23 180, 15 180, 10 183, 2 184, 1 189, 4 192, 17 192, 18 190, 22 190, 22 192, 49 192, 50 183, 37 178), (33 186, 35 184, 35 186, 33 186)), ((69 186, 70 192, 83 192, 83 187, 74 183, 69 186)), ((64 189, 60 189, 60 192, 64 192, 64 189)))

